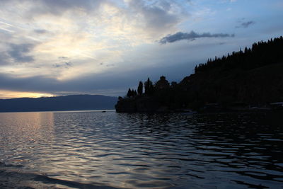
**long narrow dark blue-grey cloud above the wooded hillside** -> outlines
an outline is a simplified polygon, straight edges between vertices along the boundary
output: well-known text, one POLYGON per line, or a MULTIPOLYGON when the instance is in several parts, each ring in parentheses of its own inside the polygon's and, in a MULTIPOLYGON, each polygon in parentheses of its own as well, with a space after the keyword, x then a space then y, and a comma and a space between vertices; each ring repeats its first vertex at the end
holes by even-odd
POLYGON ((226 34, 226 33, 195 33, 191 31, 190 33, 178 32, 172 35, 167 35, 166 37, 159 40, 161 44, 166 44, 167 42, 175 42, 178 40, 195 40, 196 38, 227 38, 234 37, 234 34, 226 34))

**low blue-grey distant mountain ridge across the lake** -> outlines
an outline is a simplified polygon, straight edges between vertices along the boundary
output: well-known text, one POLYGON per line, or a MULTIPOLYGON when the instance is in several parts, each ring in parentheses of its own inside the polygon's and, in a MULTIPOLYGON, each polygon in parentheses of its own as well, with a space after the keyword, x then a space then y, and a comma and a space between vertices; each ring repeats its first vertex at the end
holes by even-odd
POLYGON ((116 102, 116 97, 101 95, 11 98, 0 99, 0 112, 110 110, 116 102))

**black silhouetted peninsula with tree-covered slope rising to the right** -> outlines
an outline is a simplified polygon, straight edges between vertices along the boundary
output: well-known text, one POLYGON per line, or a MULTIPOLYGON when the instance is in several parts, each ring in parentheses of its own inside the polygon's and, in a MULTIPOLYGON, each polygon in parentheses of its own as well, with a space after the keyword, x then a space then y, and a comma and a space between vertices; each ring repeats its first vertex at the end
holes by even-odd
POLYGON ((117 113, 282 107, 283 38, 256 42, 231 55, 208 59, 171 84, 147 79, 119 97, 117 113))

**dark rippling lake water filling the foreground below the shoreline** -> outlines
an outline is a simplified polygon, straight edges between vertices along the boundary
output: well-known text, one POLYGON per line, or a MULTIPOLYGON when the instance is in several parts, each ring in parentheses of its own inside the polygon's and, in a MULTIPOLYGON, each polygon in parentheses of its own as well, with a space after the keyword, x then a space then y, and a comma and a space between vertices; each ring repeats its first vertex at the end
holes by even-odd
POLYGON ((65 188, 283 188, 283 113, 0 113, 0 162, 65 188))

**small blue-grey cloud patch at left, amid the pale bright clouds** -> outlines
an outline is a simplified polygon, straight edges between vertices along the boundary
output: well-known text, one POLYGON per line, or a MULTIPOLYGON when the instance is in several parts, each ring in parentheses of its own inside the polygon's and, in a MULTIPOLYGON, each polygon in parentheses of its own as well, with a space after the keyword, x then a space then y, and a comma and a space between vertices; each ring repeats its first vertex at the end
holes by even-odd
POLYGON ((31 50, 35 45, 30 43, 23 44, 10 44, 11 50, 8 51, 8 55, 10 55, 15 62, 33 62, 33 56, 25 55, 31 50))

